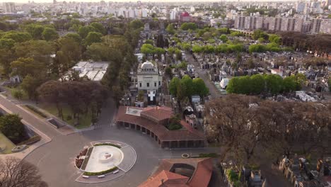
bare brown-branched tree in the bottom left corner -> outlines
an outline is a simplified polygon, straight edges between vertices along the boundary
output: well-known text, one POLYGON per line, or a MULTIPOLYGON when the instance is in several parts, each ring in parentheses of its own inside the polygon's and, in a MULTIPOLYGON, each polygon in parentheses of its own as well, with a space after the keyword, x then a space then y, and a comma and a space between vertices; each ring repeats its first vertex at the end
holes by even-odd
POLYGON ((16 157, 0 160, 0 186, 47 187, 33 164, 16 157))

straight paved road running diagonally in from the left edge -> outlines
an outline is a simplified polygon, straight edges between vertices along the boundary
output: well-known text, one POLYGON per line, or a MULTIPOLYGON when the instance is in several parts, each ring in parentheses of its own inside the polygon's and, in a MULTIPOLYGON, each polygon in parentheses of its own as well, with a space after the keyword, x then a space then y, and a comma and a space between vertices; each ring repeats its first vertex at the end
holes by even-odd
POLYGON ((55 128, 53 128, 50 124, 43 122, 42 120, 36 118, 34 115, 30 115, 29 113, 23 111, 21 108, 18 108, 15 103, 8 101, 4 96, 0 95, 0 104, 7 108, 9 111, 20 115, 23 120, 25 120, 30 125, 33 125, 34 128, 37 128, 45 135, 50 137, 57 137, 61 135, 55 128))

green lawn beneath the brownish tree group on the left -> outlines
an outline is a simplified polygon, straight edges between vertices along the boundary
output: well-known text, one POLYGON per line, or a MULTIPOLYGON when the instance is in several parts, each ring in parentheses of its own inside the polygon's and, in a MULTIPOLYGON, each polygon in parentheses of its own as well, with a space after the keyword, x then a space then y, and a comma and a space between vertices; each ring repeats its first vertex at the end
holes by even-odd
MULTIPOLYGON (((48 104, 48 103, 41 103, 38 105, 40 108, 44 109, 45 111, 48 111, 52 115, 59 116, 57 113, 57 107, 54 104, 48 104)), ((71 112, 71 109, 69 106, 62 106, 62 113, 64 115, 64 121, 68 123, 69 125, 74 126, 74 115, 71 112), (71 115, 71 119, 68 120, 68 116, 71 115)), ((80 115, 79 117, 79 125, 74 126, 75 128, 81 129, 81 128, 88 128, 91 126, 91 120, 92 120, 92 113, 91 111, 88 111, 87 115, 80 115)))

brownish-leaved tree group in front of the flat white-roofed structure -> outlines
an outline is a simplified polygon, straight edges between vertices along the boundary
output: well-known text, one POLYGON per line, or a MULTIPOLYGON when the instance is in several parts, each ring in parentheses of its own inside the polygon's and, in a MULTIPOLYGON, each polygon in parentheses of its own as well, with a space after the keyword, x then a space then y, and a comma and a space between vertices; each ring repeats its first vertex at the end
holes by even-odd
POLYGON ((77 123, 79 116, 86 115, 88 110, 91 110, 94 117, 92 122, 95 123, 107 98, 105 87, 95 81, 47 81, 37 89, 37 92, 42 101, 57 106, 58 115, 62 120, 64 120, 63 104, 67 104, 77 123))

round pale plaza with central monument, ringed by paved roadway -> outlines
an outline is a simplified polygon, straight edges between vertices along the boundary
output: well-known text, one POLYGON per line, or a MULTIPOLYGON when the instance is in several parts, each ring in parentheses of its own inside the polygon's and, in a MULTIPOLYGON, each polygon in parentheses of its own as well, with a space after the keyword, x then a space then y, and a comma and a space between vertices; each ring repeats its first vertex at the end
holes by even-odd
POLYGON ((76 179, 81 183, 100 183, 116 179, 134 166, 134 149, 115 140, 100 140, 84 146, 76 156, 75 165, 82 173, 76 179))

